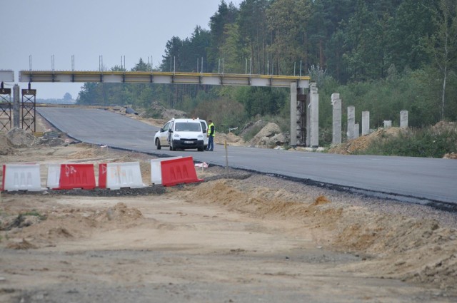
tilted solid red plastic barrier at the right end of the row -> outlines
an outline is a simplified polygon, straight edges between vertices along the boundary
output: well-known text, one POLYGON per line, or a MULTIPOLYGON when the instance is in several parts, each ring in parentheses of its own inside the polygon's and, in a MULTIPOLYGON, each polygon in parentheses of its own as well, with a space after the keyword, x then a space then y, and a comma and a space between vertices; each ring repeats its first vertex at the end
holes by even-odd
POLYGON ((194 158, 184 157, 161 161, 162 185, 174 186, 181 183, 202 182, 197 178, 194 158))

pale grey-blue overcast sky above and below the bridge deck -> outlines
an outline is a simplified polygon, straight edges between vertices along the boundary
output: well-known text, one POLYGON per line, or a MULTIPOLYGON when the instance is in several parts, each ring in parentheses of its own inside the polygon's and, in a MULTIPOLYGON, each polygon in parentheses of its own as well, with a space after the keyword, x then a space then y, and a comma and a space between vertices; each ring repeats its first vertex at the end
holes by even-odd
MULTIPOLYGON (((239 7, 242 0, 225 0, 239 7)), ((195 27, 209 29, 221 0, 1 0, 0 70, 98 71, 99 58, 111 68, 125 56, 130 70, 139 58, 154 67, 173 36, 190 37, 195 27)), ((6 83, 12 87, 14 83, 6 83)), ((76 99, 83 83, 32 83, 36 98, 76 99)))

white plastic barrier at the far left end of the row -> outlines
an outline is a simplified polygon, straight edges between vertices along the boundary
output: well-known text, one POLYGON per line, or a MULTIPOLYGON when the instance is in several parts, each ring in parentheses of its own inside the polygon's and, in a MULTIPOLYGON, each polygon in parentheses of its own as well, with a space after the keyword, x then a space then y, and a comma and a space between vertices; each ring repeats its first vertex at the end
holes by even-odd
POLYGON ((5 164, 1 190, 39 191, 41 188, 39 164, 5 164))

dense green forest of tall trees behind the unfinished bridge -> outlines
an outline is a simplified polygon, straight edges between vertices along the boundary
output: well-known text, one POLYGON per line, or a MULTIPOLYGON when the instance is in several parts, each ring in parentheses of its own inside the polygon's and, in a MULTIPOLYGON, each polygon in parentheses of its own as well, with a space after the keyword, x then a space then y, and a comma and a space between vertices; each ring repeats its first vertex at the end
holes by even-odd
MULTIPOLYGON (((407 110, 423 128, 457 120, 457 1, 221 0, 209 29, 167 41, 160 66, 139 58, 131 71, 310 76, 319 93, 321 141, 331 140, 331 94, 370 111, 371 128, 407 110), (327 135, 326 135, 327 134, 327 135)), ((110 71, 126 71, 113 66, 110 71)), ((152 104, 212 118, 219 131, 271 120, 288 131, 290 89, 250 86, 84 83, 80 104, 129 104, 158 118, 152 104)), ((344 123, 343 123, 344 128, 344 123)), ((345 133, 345 132, 344 132, 345 133)))

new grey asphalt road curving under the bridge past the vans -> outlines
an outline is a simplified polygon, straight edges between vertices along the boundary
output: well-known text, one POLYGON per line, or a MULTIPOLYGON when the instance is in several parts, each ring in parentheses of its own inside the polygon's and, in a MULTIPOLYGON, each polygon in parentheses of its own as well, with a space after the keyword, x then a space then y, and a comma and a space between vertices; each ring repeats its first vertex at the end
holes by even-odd
POLYGON ((83 108, 36 108, 36 111, 62 132, 86 143, 161 157, 192 156, 196 162, 221 166, 228 163, 231 168, 378 197, 451 209, 457 205, 457 160, 335 155, 230 145, 227 149, 216 145, 214 152, 172 152, 168 148, 156 150, 154 134, 158 128, 124 115, 83 108))

